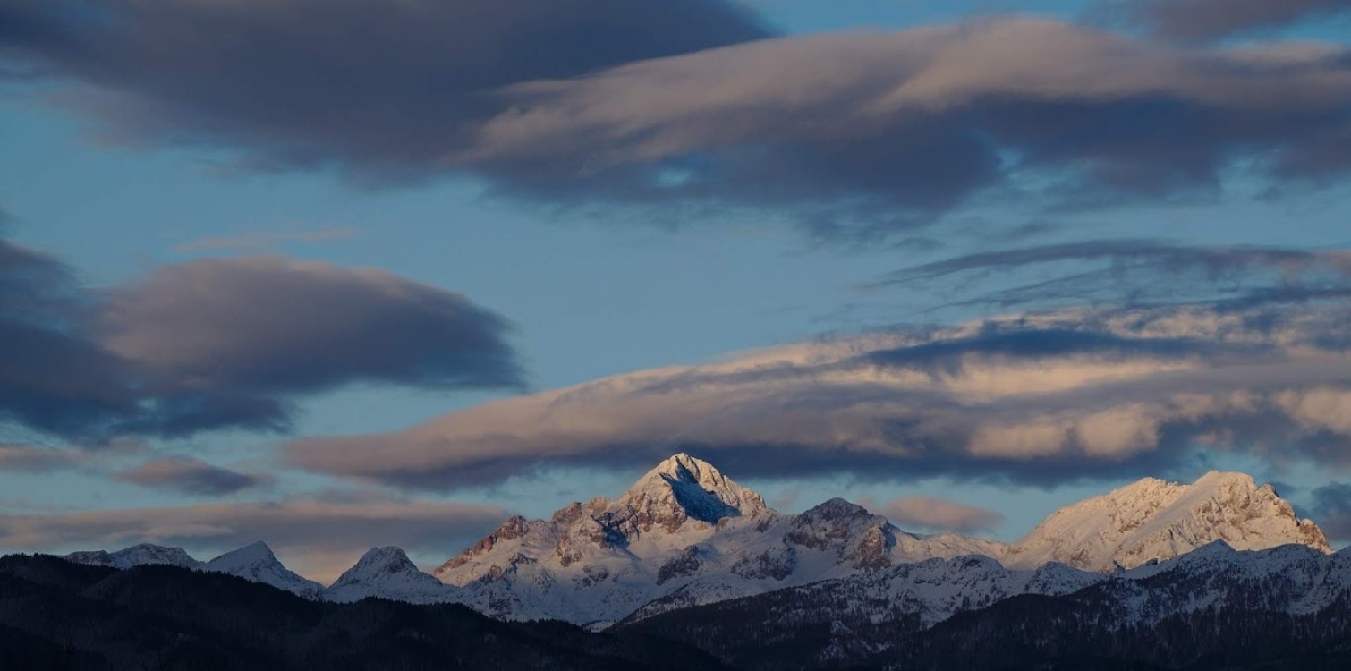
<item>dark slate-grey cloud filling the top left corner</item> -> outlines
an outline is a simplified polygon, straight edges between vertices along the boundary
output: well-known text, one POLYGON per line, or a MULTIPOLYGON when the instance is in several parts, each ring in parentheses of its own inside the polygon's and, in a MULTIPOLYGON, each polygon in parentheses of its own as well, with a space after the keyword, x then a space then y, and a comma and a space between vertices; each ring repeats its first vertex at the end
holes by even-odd
POLYGON ((721 0, 3 0, 0 24, 0 58, 115 139, 366 182, 454 169, 500 86, 766 35, 721 0))

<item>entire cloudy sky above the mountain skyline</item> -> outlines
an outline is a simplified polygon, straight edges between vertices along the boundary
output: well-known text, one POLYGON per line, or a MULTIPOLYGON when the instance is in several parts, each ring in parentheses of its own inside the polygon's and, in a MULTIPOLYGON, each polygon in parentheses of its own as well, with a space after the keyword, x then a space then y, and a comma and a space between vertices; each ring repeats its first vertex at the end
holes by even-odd
POLYGON ((0 0, 0 551, 435 566, 670 454, 1351 541, 1346 0, 0 0))

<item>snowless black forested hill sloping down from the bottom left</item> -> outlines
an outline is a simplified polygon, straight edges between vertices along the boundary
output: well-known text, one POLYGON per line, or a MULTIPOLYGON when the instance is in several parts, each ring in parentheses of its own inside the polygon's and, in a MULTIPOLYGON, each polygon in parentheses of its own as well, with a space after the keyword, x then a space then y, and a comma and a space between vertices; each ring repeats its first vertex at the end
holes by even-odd
POLYGON ((458 605, 308 601, 170 566, 126 571, 0 558, 0 668, 721 670, 646 636, 499 622, 458 605))

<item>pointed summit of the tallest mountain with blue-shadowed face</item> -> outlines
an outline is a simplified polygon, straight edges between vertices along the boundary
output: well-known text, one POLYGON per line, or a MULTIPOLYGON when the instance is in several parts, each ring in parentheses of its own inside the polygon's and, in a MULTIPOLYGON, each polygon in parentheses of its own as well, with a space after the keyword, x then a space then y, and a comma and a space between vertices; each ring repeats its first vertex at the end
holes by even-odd
POLYGON ((634 522, 643 532, 653 528, 673 532, 688 520, 712 525, 725 517, 769 510, 763 497, 684 452, 647 471, 617 502, 636 513, 634 522))

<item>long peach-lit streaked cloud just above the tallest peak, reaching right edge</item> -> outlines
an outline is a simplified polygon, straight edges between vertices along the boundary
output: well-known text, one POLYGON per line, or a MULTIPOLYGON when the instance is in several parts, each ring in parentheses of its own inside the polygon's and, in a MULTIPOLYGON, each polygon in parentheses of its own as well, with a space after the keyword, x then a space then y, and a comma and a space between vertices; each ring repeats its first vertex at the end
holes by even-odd
POLYGON ((284 447, 301 468, 403 487, 540 464, 630 468, 688 450, 742 477, 850 473, 1054 485, 1179 468, 1201 451, 1351 467, 1344 302, 1074 309, 896 329, 489 402, 284 447))

